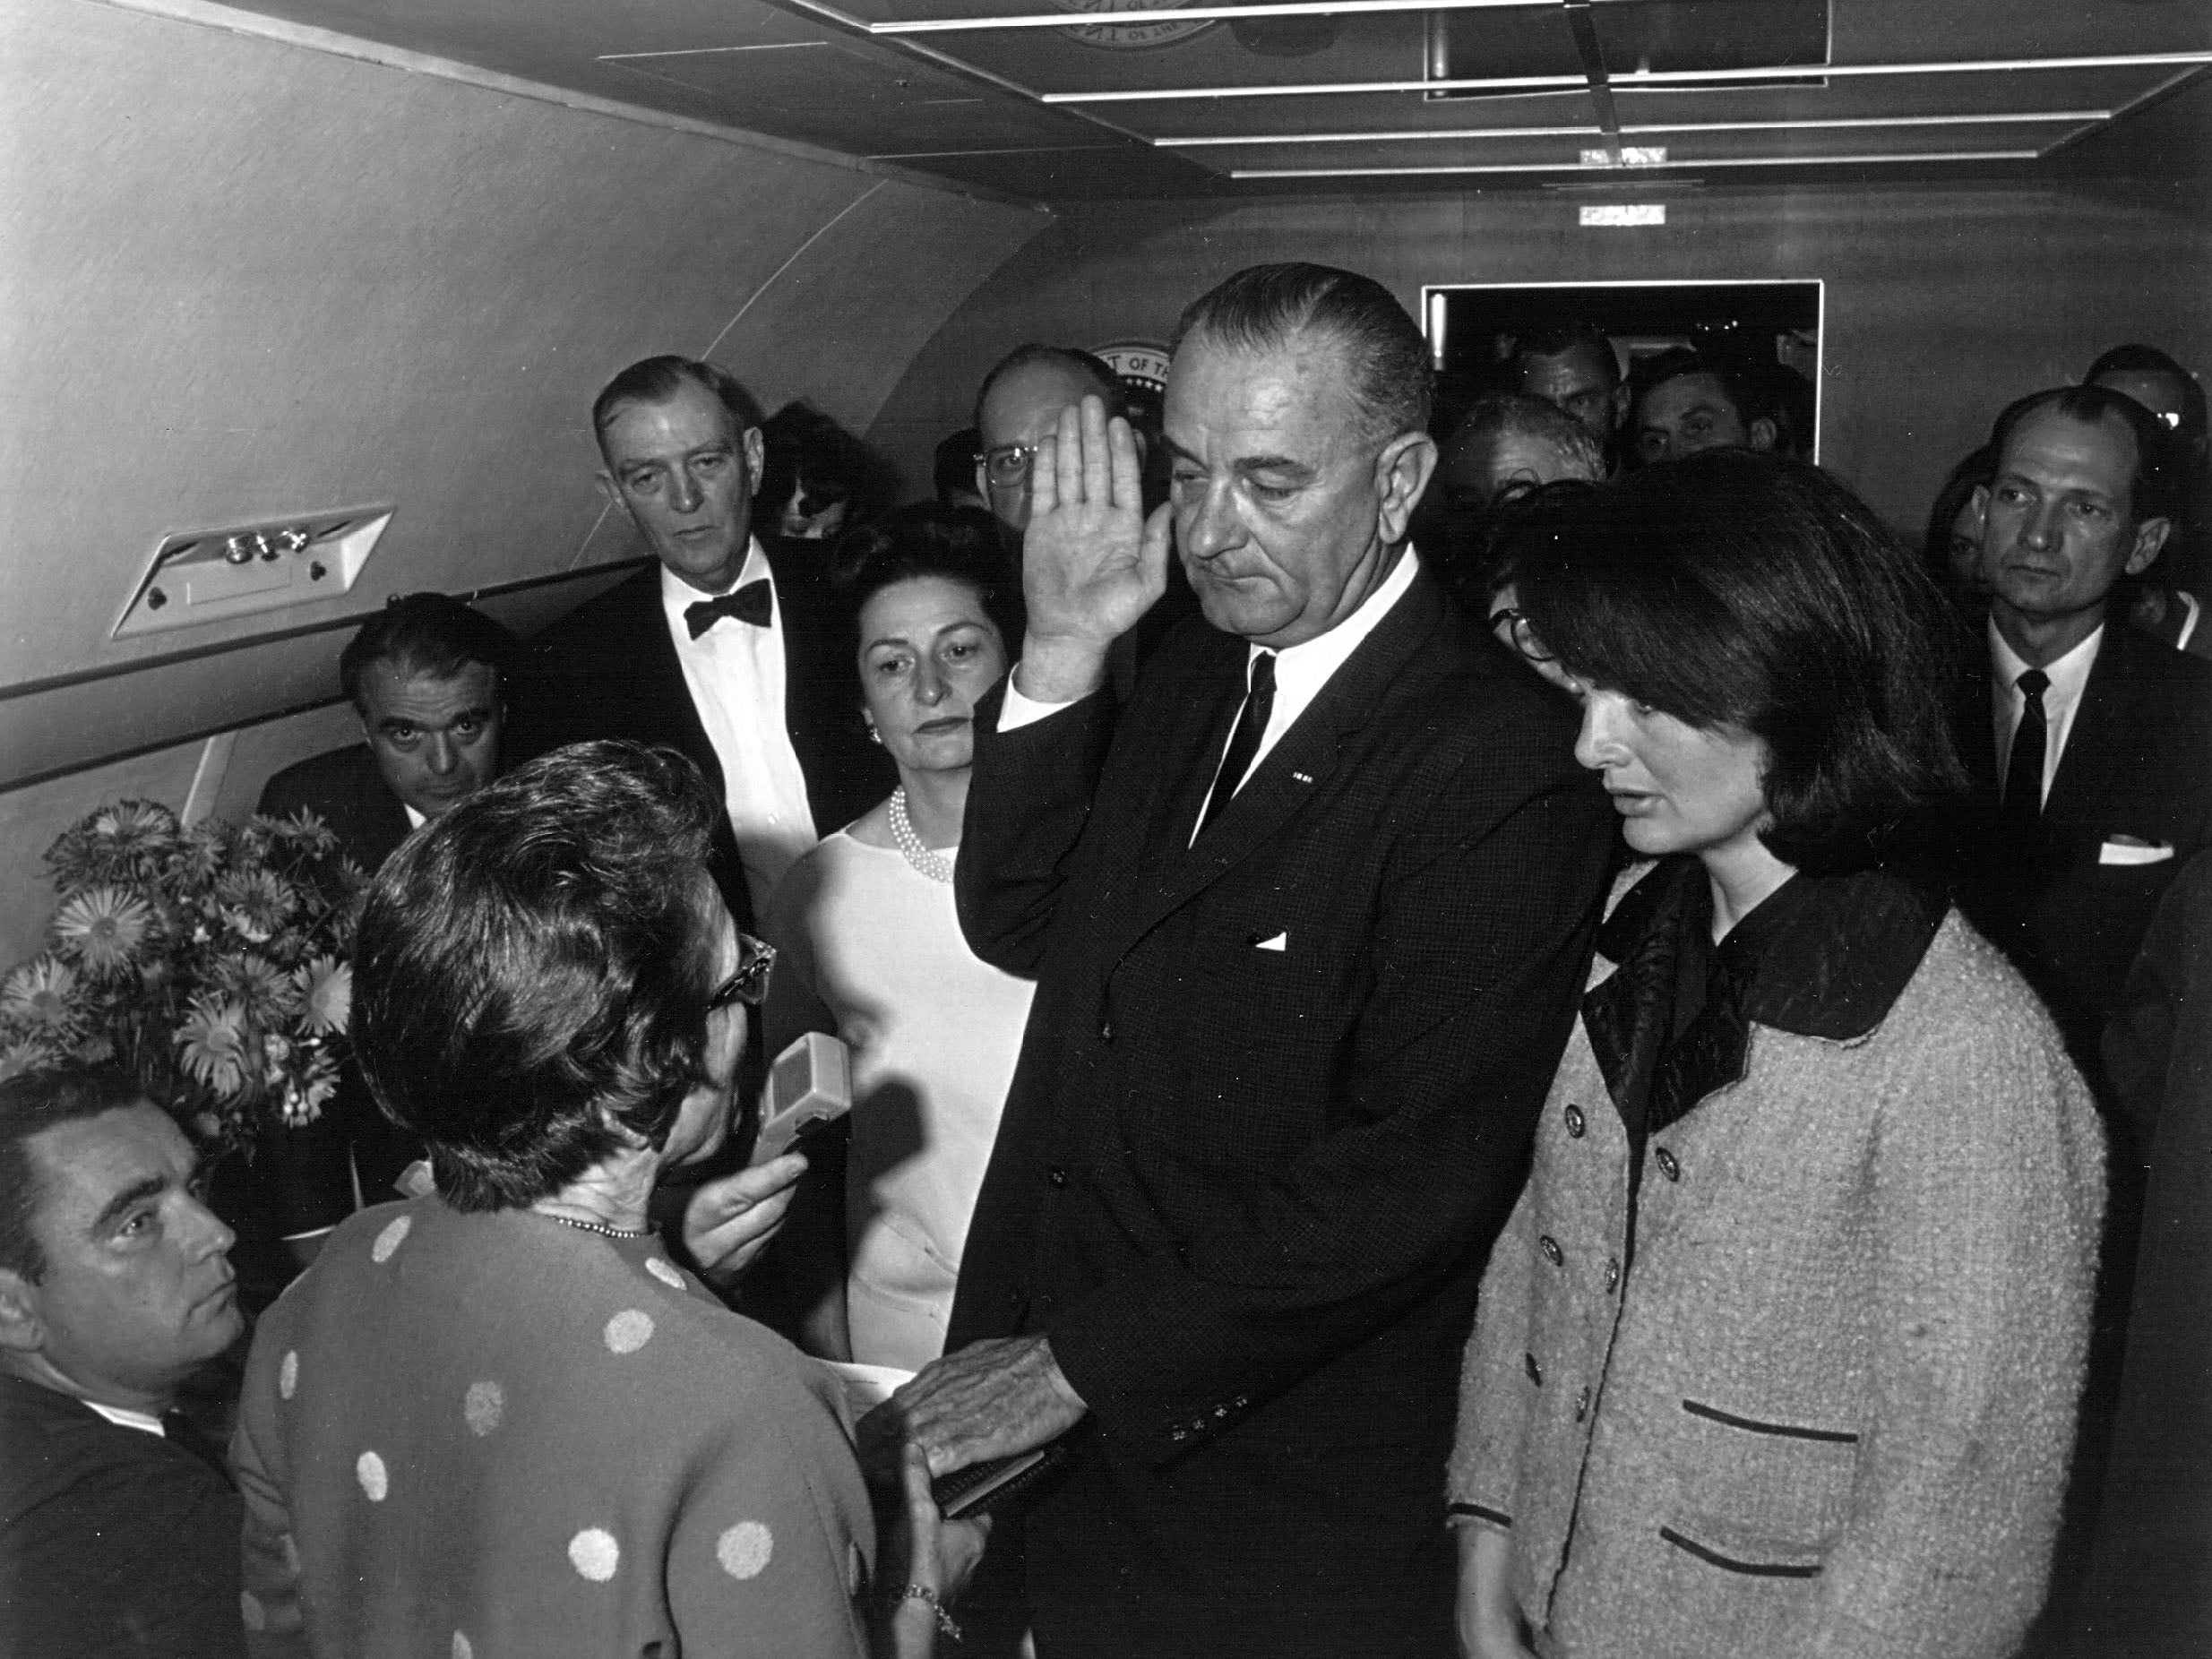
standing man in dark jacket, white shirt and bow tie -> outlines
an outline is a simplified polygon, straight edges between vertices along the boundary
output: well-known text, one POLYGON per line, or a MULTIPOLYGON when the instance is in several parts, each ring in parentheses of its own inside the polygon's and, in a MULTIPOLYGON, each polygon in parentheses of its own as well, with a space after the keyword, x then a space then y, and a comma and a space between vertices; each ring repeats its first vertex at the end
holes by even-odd
POLYGON ((540 637, 518 754, 626 737, 688 754, 723 801, 710 869, 739 925, 898 783, 860 721, 858 646, 821 546, 754 538, 761 418, 712 363, 633 363, 591 409, 599 489, 655 564, 540 637))

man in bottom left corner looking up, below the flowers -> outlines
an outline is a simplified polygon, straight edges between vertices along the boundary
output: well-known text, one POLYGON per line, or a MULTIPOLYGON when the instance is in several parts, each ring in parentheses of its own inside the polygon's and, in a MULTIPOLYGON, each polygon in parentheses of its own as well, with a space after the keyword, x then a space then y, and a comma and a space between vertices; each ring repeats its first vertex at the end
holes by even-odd
POLYGON ((9 1652, 243 1652, 243 1509, 221 1453, 175 1409, 243 1329, 230 1228, 201 1206, 195 1164, 119 1073, 0 1082, 9 1652))

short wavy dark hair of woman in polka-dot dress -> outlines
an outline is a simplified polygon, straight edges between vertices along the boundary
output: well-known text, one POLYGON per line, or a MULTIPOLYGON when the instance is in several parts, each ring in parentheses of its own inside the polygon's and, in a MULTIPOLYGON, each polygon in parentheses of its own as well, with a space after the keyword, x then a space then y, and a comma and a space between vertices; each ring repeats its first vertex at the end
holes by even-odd
POLYGON ((675 750, 575 743, 385 860, 354 940, 354 1053, 458 1210, 522 1208, 659 1146, 699 1082, 719 805, 675 750))

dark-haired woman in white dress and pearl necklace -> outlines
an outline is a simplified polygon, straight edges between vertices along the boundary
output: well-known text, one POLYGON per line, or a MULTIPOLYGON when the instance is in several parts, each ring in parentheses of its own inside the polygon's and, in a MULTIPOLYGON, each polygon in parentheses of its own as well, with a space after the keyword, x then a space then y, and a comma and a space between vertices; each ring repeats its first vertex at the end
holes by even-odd
POLYGON ((807 1347, 911 1371, 945 1352, 1029 1020, 1031 984, 975 960, 951 887, 975 703, 1006 672, 993 606, 1018 582, 989 515, 940 507, 891 513, 847 540, 838 564, 860 624, 863 712, 900 783, 792 865, 770 905, 783 951, 770 1053, 832 1031, 854 1062, 843 1230, 816 1192, 781 1250, 818 1290, 807 1347))

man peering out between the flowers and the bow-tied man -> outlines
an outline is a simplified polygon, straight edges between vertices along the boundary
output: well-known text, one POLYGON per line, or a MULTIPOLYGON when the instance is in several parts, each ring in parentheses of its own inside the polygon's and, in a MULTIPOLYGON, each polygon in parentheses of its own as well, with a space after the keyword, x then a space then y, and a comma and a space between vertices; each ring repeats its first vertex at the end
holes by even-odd
POLYGON ((338 653, 365 743, 288 765, 257 812, 314 812, 374 876, 409 830, 498 776, 513 661, 513 635, 460 599, 394 599, 338 653))

